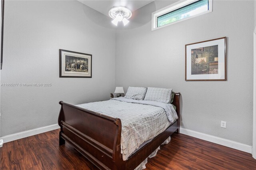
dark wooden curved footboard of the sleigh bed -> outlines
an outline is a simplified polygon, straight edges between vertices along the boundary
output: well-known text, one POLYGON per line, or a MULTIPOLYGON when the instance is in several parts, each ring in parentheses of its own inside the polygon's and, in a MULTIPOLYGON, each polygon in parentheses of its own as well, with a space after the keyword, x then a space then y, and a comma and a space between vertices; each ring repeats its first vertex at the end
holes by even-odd
POLYGON ((60 145, 66 140, 99 169, 117 169, 113 162, 120 160, 120 119, 62 101, 60 105, 60 145))

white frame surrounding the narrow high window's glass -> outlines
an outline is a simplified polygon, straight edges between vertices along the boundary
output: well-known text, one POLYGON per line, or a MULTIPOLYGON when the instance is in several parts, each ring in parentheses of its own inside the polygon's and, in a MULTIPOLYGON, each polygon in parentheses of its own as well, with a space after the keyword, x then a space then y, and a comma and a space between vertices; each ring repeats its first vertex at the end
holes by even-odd
POLYGON ((166 27, 166 26, 170 26, 170 25, 172 25, 172 24, 176 24, 176 23, 178 23, 178 22, 182 22, 182 21, 184 21, 184 20, 188 20, 188 19, 190 19, 190 18, 194 18, 194 17, 200 16, 200 15, 207 14, 207 13, 209 13, 209 12, 212 12, 212 0, 208 0, 208 5, 209 5, 209 6, 208 6, 208 8, 209 8, 208 11, 205 11, 205 12, 202 12, 202 13, 200 13, 200 14, 196 14, 196 15, 194 15, 194 16, 190 16, 190 17, 188 17, 188 18, 183 18, 183 19, 181 19, 181 20, 178 20, 178 21, 175 21, 175 22, 171 22, 171 23, 169 23, 169 24, 166 24, 166 25, 157 27, 157 18, 158 18, 159 16, 162 16, 162 15, 164 15, 164 14, 167 14, 167 13, 169 13, 169 12, 172 12, 172 11, 174 11, 174 10, 177 10, 177 9, 179 9, 179 8, 182 8, 182 7, 184 7, 184 6, 187 6, 187 5, 192 4, 192 3, 194 3, 194 2, 197 2, 197 1, 199 1, 199 0, 185 0, 185 1, 184 1, 184 0, 180 0, 180 1, 178 1, 178 2, 175 2, 175 3, 173 3, 173 4, 170 4, 170 5, 166 6, 166 7, 162 8, 162 9, 160 9, 160 10, 157 10, 156 12, 152 12, 152 17, 151 17, 151 30, 152 30, 152 31, 158 30, 159 28, 164 28, 164 27, 166 27))

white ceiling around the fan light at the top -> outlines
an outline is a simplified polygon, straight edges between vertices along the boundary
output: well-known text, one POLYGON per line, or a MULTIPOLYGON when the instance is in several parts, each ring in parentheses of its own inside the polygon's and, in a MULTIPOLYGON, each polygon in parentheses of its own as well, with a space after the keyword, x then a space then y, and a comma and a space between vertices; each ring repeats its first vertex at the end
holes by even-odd
POLYGON ((108 11, 116 6, 124 6, 132 12, 154 0, 78 0, 86 6, 108 16, 108 11))

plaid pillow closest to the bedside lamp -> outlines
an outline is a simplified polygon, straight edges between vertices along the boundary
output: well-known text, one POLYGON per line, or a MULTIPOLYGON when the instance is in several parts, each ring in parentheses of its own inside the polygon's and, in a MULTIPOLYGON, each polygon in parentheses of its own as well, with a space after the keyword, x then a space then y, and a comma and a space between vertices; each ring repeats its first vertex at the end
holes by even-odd
POLYGON ((145 87, 128 87, 125 98, 143 100, 146 94, 147 88, 145 87))

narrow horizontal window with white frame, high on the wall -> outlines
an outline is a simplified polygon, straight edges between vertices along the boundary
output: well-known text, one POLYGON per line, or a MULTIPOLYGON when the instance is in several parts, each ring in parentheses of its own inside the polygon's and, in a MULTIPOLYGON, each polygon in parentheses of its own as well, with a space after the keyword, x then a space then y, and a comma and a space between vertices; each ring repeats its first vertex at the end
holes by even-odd
POLYGON ((152 30, 212 12, 212 0, 178 1, 152 13, 152 30))

